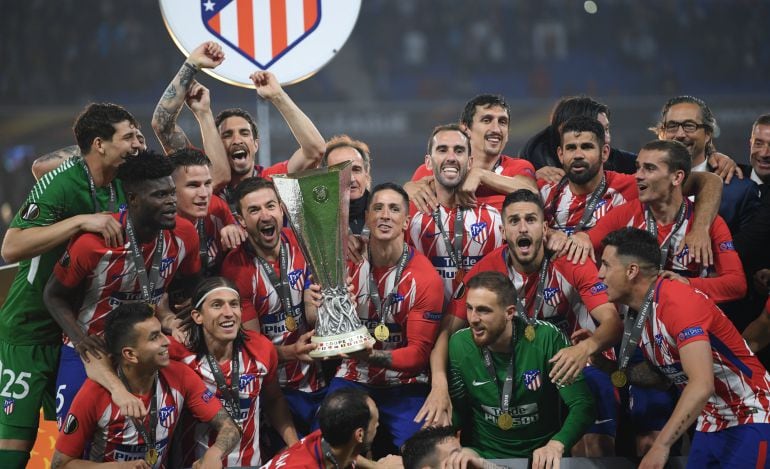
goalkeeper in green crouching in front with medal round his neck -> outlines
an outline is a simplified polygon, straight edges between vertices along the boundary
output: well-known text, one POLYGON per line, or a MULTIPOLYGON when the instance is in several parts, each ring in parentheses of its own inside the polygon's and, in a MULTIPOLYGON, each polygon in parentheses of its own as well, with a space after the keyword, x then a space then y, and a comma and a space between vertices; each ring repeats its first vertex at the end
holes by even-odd
POLYGON ((537 321, 526 335, 516 316, 516 291, 499 272, 482 272, 466 285, 468 323, 449 340, 452 423, 463 446, 482 457, 528 458, 552 467, 593 423, 593 398, 582 374, 557 387, 549 360, 569 347, 553 324, 537 321), (561 401, 569 414, 561 422, 561 401))

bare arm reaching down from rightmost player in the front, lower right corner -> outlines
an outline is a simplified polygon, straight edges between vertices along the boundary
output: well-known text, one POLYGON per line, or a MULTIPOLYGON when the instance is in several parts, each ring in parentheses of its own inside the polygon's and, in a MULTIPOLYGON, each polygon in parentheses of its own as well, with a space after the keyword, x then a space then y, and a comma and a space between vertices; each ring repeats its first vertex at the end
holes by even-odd
POLYGON ((714 393, 711 344, 705 340, 690 342, 679 349, 687 385, 674 412, 655 438, 639 467, 663 467, 673 445, 698 418, 708 398, 714 393))

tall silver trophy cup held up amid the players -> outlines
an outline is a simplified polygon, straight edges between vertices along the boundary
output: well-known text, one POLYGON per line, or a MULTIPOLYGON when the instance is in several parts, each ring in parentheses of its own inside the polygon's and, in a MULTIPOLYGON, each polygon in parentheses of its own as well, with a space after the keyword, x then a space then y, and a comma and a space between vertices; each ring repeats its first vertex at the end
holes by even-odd
POLYGON ((359 321, 345 283, 350 162, 276 175, 273 183, 323 294, 315 335, 310 339, 318 347, 310 356, 332 357, 363 350, 373 339, 359 321))

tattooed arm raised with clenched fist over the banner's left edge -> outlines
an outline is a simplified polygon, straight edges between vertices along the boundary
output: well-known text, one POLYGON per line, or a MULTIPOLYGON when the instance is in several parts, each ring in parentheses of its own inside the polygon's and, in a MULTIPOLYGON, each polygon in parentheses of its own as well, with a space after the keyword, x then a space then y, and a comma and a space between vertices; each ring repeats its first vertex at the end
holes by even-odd
POLYGON ((193 76, 201 68, 216 67, 222 63, 222 60, 224 60, 224 53, 221 46, 214 42, 204 42, 190 53, 160 97, 152 115, 152 129, 167 154, 181 150, 190 144, 187 135, 177 125, 176 120, 192 87, 193 76))

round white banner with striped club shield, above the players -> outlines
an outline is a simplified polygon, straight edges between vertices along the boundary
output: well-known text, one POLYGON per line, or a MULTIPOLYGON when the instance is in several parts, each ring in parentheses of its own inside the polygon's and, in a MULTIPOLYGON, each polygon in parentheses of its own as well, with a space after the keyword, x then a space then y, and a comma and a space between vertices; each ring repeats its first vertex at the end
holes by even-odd
POLYGON ((172 39, 185 55, 206 41, 222 45, 225 61, 209 75, 253 88, 249 75, 301 81, 326 65, 347 41, 361 0, 160 0, 172 39))

